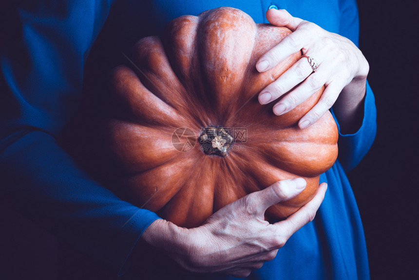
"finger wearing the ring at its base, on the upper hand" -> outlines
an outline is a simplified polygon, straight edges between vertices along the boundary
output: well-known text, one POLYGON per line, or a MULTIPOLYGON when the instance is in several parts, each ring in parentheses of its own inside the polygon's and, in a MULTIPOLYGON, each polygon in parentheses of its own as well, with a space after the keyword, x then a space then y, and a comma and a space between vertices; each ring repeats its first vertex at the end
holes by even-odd
POLYGON ((306 58, 302 58, 294 63, 284 74, 279 76, 277 80, 269 84, 259 94, 259 102, 261 104, 267 104, 273 100, 276 100, 290 91, 295 85, 305 80, 313 69, 310 64, 307 63, 306 58))

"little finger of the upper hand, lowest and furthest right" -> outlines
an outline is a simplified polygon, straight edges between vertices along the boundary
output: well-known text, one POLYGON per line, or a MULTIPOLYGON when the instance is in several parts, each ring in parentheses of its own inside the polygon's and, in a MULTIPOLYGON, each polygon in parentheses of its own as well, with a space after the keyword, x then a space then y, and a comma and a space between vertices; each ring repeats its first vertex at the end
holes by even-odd
POLYGON ((324 113, 335 104, 343 87, 344 85, 338 82, 331 82, 328 84, 320 97, 320 100, 304 115, 303 118, 301 118, 298 122, 298 126, 301 129, 304 129, 322 118, 324 113))

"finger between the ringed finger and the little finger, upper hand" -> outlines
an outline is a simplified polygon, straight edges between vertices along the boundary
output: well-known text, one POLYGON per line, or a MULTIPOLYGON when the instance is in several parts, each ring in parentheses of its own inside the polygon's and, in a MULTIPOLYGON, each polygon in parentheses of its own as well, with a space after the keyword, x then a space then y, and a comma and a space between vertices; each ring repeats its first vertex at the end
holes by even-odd
POLYGON ((279 116, 291 111, 319 91, 328 79, 329 73, 327 70, 319 69, 319 71, 309 75, 307 79, 273 106, 274 114, 279 116))

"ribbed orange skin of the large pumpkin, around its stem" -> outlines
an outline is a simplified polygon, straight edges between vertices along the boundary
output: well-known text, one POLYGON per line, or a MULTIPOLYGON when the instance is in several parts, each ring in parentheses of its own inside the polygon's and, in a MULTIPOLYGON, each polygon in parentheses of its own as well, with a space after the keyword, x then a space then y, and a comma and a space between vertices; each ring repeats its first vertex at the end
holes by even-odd
POLYGON ((194 227, 278 180, 303 177, 307 187, 270 207, 267 218, 284 219, 314 196, 319 174, 337 158, 337 127, 329 112, 304 130, 297 122, 323 89, 282 116, 272 113, 273 104, 257 100, 301 56, 256 71, 261 55, 289 33, 222 7, 172 20, 162 37, 135 44, 130 56, 135 66, 119 66, 112 73, 117 109, 102 139, 123 170, 119 187, 126 199, 177 225, 194 227), (226 157, 206 155, 198 140, 186 152, 173 146, 177 128, 189 128, 198 138, 208 126, 246 128, 246 141, 233 143, 226 157))

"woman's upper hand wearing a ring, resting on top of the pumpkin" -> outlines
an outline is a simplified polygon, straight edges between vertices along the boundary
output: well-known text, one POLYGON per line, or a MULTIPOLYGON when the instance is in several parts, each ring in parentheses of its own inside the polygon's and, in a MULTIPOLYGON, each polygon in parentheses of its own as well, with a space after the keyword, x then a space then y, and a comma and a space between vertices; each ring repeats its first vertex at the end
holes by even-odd
POLYGON ((362 52, 351 40, 328 32, 312 22, 294 18, 286 10, 268 10, 267 20, 273 25, 289 28, 292 33, 258 60, 256 69, 259 72, 273 68, 300 50, 303 55, 317 60, 318 68, 314 72, 308 59, 302 57, 261 91, 259 102, 267 104, 288 93, 273 107, 276 115, 282 115, 324 85, 325 90, 318 103, 299 121, 300 128, 319 120, 334 104, 341 128, 350 127, 357 120, 362 107, 369 71, 362 52))

